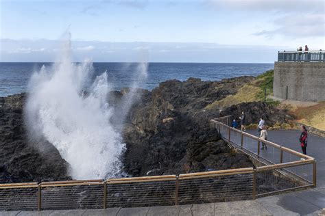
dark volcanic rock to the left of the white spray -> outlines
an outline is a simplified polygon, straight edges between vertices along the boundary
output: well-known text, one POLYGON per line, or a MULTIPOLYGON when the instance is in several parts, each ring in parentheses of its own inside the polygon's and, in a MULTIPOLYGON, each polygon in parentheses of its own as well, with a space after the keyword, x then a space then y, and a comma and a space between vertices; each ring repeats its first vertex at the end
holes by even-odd
POLYGON ((70 179, 67 162, 56 148, 46 141, 32 143, 27 138, 24 102, 25 94, 0 98, 0 183, 70 179))

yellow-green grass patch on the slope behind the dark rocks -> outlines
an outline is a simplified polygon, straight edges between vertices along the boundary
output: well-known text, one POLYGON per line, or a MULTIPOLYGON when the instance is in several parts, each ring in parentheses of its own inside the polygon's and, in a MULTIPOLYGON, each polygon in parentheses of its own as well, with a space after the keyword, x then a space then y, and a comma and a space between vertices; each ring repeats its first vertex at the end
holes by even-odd
POLYGON ((206 106, 205 109, 222 109, 224 107, 230 107, 231 105, 237 105, 239 103, 247 103, 252 101, 262 100, 263 90, 261 87, 252 85, 243 85, 234 95, 228 95, 226 98, 217 100, 214 103, 206 106))

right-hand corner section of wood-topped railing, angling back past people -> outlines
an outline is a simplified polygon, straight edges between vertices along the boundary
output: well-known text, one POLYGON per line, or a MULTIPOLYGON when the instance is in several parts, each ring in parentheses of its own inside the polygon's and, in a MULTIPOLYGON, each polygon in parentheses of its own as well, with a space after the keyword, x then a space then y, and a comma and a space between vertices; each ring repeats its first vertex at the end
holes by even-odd
POLYGON ((221 133, 224 141, 262 164, 254 169, 256 197, 316 187, 316 161, 313 157, 234 129, 229 126, 231 120, 232 116, 224 116, 210 120, 210 123, 221 133), (261 151, 263 144, 267 146, 265 151, 261 151))

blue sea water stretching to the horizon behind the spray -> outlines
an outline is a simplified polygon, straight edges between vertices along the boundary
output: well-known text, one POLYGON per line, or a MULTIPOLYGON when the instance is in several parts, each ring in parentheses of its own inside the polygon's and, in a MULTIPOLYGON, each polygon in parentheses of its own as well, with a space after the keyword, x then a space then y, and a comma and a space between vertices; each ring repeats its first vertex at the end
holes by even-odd
MULTIPOLYGON (((0 96, 27 91, 27 84, 34 71, 51 63, 0 63, 0 96)), ((129 87, 134 80, 136 63, 94 63, 97 75, 107 71, 108 79, 115 90, 129 87)), ((189 77, 203 81, 219 81, 230 77, 257 76, 274 68, 274 64, 241 63, 149 63, 147 81, 140 87, 152 90, 160 82, 169 79, 185 81, 189 77)))

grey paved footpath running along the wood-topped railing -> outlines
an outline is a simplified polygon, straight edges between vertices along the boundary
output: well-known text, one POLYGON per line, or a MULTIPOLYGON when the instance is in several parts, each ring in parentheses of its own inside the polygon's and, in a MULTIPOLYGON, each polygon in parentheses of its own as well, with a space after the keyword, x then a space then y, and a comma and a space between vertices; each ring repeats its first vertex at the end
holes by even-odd
MULTIPOLYGON (((256 131, 249 131, 253 135, 256 131)), ((268 139, 301 152, 300 131, 269 131, 268 139)), ((309 135, 307 154, 317 160, 317 187, 256 200, 183 206, 106 208, 67 211, 12 211, 1 215, 325 215, 325 139, 309 135), (324 209, 323 209, 324 208, 324 209)))

